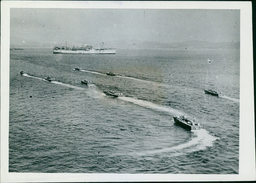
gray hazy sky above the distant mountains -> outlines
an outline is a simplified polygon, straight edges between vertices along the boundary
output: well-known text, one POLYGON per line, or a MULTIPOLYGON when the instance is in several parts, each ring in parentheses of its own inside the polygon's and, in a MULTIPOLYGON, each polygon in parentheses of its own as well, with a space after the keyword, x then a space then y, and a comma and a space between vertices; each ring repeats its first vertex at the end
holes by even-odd
POLYGON ((11 8, 10 43, 240 41, 240 10, 11 8))

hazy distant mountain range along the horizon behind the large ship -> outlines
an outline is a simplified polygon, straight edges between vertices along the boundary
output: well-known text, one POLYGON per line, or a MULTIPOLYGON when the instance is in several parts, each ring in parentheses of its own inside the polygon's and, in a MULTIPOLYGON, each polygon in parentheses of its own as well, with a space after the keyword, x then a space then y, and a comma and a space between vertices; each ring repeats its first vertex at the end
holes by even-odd
MULTIPOLYGON (((76 43, 75 45, 82 45, 84 43, 76 43)), ((98 47, 99 43, 87 43, 98 47)), ((10 41, 10 47, 54 47, 55 45, 64 45, 64 44, 55 44, 55 43, 38 43, 29 40, 20 40, 19 38, 12 38, 10 41), (13 40, 13 41, 12 41, 13 40)), ((68 43, 68 46, 74 45, 68 43)), ((186 41, 186 42, 177 42, 177 43, 160 43, 156 41, 138 41, 138 40, 118 40, 118 41, 109 41, 101 44, 102 47, 113 47, 113 48, 229 48, 229 49, 239 49, 240 42, 221 42, 221 43, 211 43, 207 41, 186 41)))

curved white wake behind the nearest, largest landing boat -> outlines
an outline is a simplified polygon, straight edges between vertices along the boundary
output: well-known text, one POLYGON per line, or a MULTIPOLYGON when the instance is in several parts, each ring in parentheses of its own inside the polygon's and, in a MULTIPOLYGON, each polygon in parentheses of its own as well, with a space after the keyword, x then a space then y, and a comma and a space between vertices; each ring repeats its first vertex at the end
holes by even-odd
POLYGON ((161 153, 172 153, 171 156, 179 156, 184 154, 189 154, 191 152, 196 152, 200 150, 204 150, 207 147, 212 147, 213 142, 217 139, 213 135, 209 133, 209 131, 205 129, 201 130, 191 130, 193 132, 193 136, 191 140, 180 144, 178 146, 157 149, 157 150, 149 150, 140 153, 136 153, 138 155, 157 155, 161 153))

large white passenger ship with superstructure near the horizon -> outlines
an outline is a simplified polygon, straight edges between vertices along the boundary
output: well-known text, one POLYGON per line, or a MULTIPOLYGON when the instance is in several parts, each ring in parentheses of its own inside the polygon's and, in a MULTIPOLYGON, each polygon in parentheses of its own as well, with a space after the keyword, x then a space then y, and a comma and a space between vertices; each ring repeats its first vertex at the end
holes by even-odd
POLYGON ((55 46, 53 48, 53 53, 81 53, 81 54, 116 54, 116 49, 114 48, 94 48, 84 44, 82 46, 55 46))

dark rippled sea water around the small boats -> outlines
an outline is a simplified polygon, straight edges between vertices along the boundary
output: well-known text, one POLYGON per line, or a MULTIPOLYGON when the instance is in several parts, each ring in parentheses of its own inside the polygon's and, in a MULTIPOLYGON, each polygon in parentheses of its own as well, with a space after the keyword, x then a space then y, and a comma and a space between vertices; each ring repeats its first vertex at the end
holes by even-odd
POLYGON ((192 48, 10 51, 9 172, 238 174, 239 57, 192 48), (49 75, 56 81, 44 81, 49 75), (183 114, 204 129, 175 126, 173 115, 183 114))

